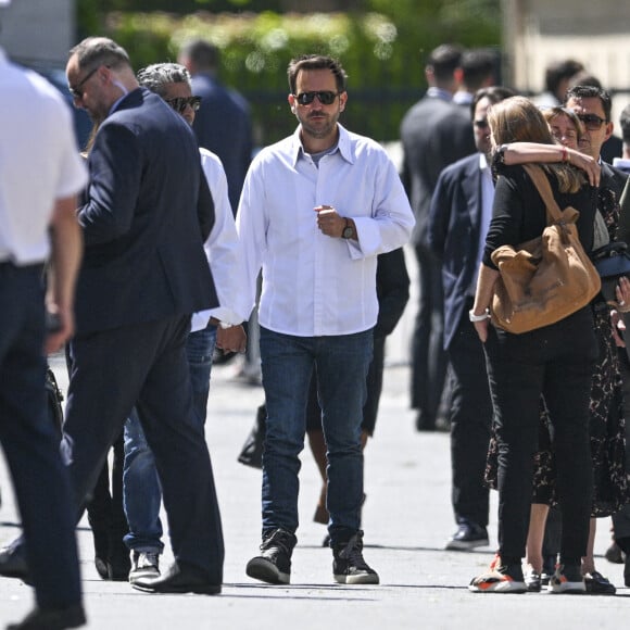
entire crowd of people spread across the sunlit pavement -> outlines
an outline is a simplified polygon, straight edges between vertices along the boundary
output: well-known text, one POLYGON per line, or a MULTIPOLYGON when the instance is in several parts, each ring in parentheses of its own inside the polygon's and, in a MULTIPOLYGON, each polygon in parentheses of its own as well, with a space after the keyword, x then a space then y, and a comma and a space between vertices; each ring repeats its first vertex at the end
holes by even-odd
POLYGON ((363 450, 385 338, 408 299, 410 241, 419 280, 410 340, 416 428, 451 433, 456 530, 446 551, 489 544, 489 492, 499 491, 496 555, 469 589, 615 593, 594 564, 603 516, 614 517, 609 556, 627 563, 630 585, 630 282, 521 335, 490 317, 493 252, 546 225, 529 165, 542 168, 560 209, 579 211, 587 251, 630 238, 629 110, 612 166, 603 159, 610 96, 581 64, 550 71, 539 105, 494 85, 487 51, 440 46, 425 68, 429 88, 401 124, 399 173, 377 141, 341 125, 348 77, 327 55, 290 61, 295 131, 253 160, 247 103, 218 80, 209 42, 138 72, 109 38, 75 46, 68 88, 93 122, 85 159, 60 96, 0 55, 0 89, 20 102, 0 121, 0 155, 11 147, 13 156, 0 162, 0 294, 11 305, 1 315, 0 438, 23 520, 0 552, 0 575, 36 593, 13 628, 85 623, 73 532, 86 508, 103 579, 150 593, 222 592, 209 387, 215 348, 244 352, 255 306, 262 542, 244 570, 290 582, 308 434, 332 578, 378 584, 363 555, 363 450), (28 151, 17 127, 41 151, 28 151), (38 187, 25 176, 34 160, 38 187), (43 378, 45 351, 63 345, 60 444, 43 378), (162 504, 175 560, 166 569, 162 504), (555 542, 543 544, 554 527, 555 542))

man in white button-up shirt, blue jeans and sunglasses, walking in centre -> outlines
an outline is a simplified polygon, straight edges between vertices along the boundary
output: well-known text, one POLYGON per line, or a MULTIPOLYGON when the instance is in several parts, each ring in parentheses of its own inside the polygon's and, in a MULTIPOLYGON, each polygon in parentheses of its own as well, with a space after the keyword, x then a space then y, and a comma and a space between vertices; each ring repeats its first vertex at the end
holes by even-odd
POLYGON ((237 228, 250 303, 259 272, 261 358, 267 404, 263 544, 250 577, 289 583, 298 528, 304 410, 317 374, 328 446, 333 576, 378 583, 362 555, 362 408, 378 314, 377 255, 404 244, 414 216, 393 163, 339 123, 345 73, 327 56, 289 64, 293 136, 263 149, 241 196, 237 228))

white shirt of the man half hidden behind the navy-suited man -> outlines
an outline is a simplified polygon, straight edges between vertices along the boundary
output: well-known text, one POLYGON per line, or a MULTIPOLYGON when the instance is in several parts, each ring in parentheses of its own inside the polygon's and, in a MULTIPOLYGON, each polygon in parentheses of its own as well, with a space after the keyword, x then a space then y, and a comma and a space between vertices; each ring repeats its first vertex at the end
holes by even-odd
POLYGON ((217 155, 199 149, 201 166, 214 201, 214 225, 203 248, 212 272, 220 306, 192 315, 191 332, 202 330, 211 317, 226 324, 240 324, 249 318, 244 299, 243 263, 234 214, 227 194, 225 169, 217 155))

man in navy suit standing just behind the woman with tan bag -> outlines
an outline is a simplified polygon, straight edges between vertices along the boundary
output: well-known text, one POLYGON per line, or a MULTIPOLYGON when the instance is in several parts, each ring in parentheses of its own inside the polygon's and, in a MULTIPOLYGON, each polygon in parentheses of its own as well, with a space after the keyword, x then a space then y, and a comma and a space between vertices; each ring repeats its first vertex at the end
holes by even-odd
POLYGON ((478 152, 442 171, 429 214, 429 247, 442 265, 444 349, 452 375, 452 502, 457 531, 446 543, 449 550, 488 544, 489 491, 483 472, 492 403, 483 349, 468 311, 494 199, 487 111, 511 96, 511 90, 501 87, 475 93, 470 110, 478 152))

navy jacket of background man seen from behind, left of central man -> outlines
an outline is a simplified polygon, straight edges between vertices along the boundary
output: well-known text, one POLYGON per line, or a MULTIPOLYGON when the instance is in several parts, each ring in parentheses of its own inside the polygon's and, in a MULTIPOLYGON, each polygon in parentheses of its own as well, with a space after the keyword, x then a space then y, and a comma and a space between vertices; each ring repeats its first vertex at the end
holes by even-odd
POLYGON ((199 146, 216 153, 222 161, 229 201, 236 214, 252 159, 249 105, 239 93, 226 89, 211 75, 194 75, 191 84, 192 93, 201 97, 192 128, 199 146))

